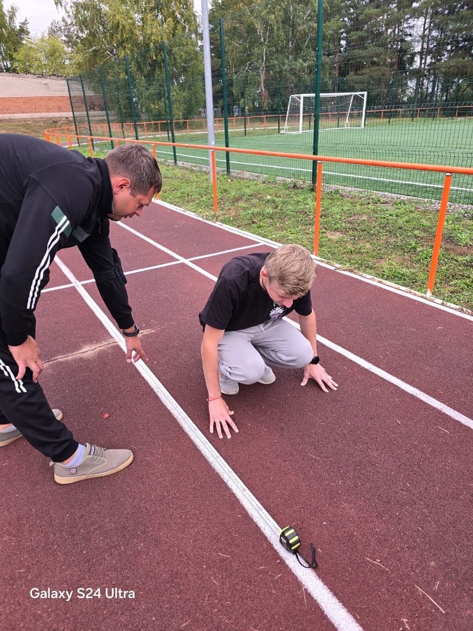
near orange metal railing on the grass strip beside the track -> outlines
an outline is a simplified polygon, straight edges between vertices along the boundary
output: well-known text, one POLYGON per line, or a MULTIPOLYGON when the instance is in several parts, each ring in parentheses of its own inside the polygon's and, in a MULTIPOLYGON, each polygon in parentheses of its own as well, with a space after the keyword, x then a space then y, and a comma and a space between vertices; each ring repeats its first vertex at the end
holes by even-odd
POLYGON ((161 141, 146 141, 146 140, 134 140, 132 138, 110 138, 109 136, 81 136, 72 133, 62 134, 61 130, 46 130, 45 138, 47 141, 55 141, 57 144, 61 144, 61 137, 67 137, 67 146, 72 148, 72 138, 87 141, 89 155, 93 156, 92 141, 108 141, 115 144, 117 147, 120 143, 137 143, 151 145, 153 155, 156 157, 156 146, 168 146, 168 147, 183 147, 188 149, 197 149, 202 151, 209 151, 211 155, 211 172, 213 174, 213 198, 214 198, 214 212, 218 216, 218 194, 217 194, 217 178, 216 178, 216 151, 226 151, 228 153, 244 153, 248 155, 262 155, 262 156, 275 156, 277 158, 290 158, 293 160, 310 160, 317 162, 317 184, 315 189, 315 219, 314 219, 314 240, 313 240, 313 252, 318 255, 318 236, 320 233, 320 204, 322 199, 322 168, 324 162, 337 162, 342 164, 356 164, 366 165, 370 167, 389 167, 389 168, 403 168, 414 171, 430 171, 436 173, 445 174, 443 180, 443 190, 440 201, 440 209, 438 215, 437 228, 435 233, 435 240, 433 245, 432 259, 429 268, 429 278, 426 287, 426 296, 432 295, 433 286, 435 283, 435 274, 438 266, 438 258, 440 256, 441 239, 443 234, 443 227, 445 225, 445 216, 447 215, 448 196, 450 194, 450 186, 452 184, 453 174, 473 175, 473 168, 467 167, 450 167, 440 165, 428 165, 418 164, 414 162, 391 162, 389 160, 362 160, 359 158, 341 158, 334 156, 313 156, 300 153, 284 153, 282 151, 260 151, 252 149, 240 149, 232 147, 218 147, 207 144, 191 144, 191 143, 166 143, 161 141))

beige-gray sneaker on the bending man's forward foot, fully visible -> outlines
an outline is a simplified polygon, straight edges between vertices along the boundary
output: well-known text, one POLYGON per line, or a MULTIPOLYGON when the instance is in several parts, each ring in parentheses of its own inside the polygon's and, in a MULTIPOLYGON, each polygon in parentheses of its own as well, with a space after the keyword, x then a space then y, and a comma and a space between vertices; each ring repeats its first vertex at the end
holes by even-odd
POLYGON ((85 456, 83 461, 75 467, 67 464, 50 463, 54 466, 54 480, 58 484, 72 484, 80 480, 91 478, 104 478, 112 473, 121 471, 133 459, 129 449, 104 449, 96 445, 85 444, 85 456))

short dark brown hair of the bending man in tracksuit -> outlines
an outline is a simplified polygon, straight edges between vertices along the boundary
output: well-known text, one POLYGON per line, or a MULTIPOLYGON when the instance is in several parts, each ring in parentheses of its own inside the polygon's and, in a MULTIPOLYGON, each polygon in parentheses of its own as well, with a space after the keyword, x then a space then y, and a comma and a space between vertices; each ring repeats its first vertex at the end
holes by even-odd
POLYGON ((131 183, 131 195, 145 195, 155 187, 155 193, 161 191, 161 171, 153 154, 141 144, 120 144, 108 151, 105 163, 110 175, 127 177, 131 183))

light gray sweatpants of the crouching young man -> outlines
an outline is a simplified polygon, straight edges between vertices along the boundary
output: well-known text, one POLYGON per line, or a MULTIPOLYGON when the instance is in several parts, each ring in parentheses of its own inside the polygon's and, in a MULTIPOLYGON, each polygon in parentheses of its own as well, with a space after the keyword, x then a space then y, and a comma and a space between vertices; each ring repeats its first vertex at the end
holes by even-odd
POLYGON ((303 368, 312 357, 308 339, 282 319, 241 331, 226 331, 218 344, 219 372, 247 385, 261 379, 266 363, 303 368))

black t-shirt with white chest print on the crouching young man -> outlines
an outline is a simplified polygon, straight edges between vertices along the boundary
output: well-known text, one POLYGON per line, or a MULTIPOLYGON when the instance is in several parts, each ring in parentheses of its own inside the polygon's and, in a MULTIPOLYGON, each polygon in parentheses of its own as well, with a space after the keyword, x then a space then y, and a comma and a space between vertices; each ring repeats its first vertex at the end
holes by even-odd
POLYGON ((225 331, 240 331, 269 320, 277 320, 291 311, 310 315, 310 291, 297 298, 289 309, 276 305, 259 283, 259 274, 269 252, 236 256, 225 263, 207 304, 199 314, 206 324, 225 331))

